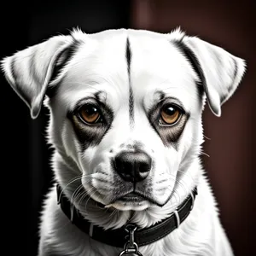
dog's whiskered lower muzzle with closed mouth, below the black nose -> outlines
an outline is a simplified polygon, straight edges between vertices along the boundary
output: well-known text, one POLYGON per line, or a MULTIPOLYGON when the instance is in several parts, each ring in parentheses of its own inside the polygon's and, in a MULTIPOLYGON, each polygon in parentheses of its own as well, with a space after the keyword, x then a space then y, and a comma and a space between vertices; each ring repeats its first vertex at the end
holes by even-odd
POLYGON ((172 196, 173 178, 165 173, 158 176, 154 178, 154 184, 152 179, 134 184, 125 183, 117 175, 111 178, 108 172, 95 172, 89 178, 84 175, 82 183, 88 195, 106 207, 142 211, 154 205, 163 207, 172 196))

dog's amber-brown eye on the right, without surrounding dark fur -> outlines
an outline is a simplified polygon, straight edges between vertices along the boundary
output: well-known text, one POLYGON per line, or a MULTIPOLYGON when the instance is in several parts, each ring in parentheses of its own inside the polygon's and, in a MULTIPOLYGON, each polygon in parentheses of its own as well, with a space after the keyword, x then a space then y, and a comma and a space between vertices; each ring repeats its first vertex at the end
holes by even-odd
POLYGON ((173 125, 181 116, 181 110, 174 105, 167 105, 161 110, 160 125, 173 125))

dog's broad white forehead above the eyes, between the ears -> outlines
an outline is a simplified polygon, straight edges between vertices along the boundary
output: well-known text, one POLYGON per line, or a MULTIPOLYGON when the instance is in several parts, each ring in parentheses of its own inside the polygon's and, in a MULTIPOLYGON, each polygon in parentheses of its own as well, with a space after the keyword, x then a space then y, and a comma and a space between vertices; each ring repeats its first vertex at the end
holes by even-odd
POLYGON ((79 44, 62 90, 73 92, 73 102, 93 90, 127 97, 131 88, 135 99, 164 90, 181 101, 186 98, 189 105, 187 98, 196 98, 195 79, 189 62, 165 34, 111 30, 79 44))

